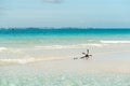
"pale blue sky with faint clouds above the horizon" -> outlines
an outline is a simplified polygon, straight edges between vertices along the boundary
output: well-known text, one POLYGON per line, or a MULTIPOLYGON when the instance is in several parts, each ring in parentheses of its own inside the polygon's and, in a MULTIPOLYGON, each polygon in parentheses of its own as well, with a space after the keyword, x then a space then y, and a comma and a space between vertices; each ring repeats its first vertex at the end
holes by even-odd
POLYGON ((130 0, 0 0, 0 27, 130 28, 130 0))

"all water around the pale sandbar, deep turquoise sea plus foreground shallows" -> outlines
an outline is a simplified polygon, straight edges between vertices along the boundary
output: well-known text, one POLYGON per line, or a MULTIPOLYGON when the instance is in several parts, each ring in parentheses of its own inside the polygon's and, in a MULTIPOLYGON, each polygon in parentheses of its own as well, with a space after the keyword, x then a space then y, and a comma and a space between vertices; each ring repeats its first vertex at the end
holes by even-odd
POLYGON ((62 54, 63 48, 113 43, 130 44, 130 29, 1 29, 0 63, 4 64, 0 64, 0 86, 130 86, 129 73, 60 74, 11 69, 12 62, 26 64, 39 56, 46 58, 47 49, 62 54))

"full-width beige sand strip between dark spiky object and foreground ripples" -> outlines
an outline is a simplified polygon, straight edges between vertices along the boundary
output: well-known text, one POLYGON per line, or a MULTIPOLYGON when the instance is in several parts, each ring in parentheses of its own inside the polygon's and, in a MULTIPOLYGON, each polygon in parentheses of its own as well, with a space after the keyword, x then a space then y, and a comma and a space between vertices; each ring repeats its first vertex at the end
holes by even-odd
POLYGON ((130 73, 130 60, 58 59, 0 67, 1 73, 130 73), (23 71, 23 72, 22 72, 23 71))

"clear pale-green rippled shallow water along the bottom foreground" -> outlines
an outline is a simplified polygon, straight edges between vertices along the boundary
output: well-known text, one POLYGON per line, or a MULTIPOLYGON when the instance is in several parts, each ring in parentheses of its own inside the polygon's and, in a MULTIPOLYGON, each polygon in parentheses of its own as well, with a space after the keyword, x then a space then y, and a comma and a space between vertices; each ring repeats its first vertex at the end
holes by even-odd
POLYGON ((31 74, 0 75, 0 86, 130 86, 130 74, 31 74))

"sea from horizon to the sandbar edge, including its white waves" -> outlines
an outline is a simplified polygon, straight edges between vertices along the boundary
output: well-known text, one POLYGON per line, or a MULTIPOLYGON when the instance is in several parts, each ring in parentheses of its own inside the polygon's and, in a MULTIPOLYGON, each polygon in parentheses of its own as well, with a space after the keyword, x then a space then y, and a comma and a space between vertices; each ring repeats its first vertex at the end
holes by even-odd
POLYGON ((130 44, 130 29, 0 29, 0 58, 46 57, 56 49, 58 56, 63 49, 121 43, 130 44))

